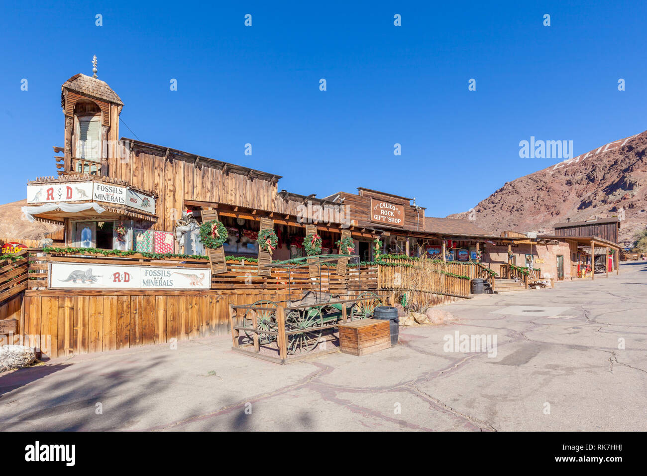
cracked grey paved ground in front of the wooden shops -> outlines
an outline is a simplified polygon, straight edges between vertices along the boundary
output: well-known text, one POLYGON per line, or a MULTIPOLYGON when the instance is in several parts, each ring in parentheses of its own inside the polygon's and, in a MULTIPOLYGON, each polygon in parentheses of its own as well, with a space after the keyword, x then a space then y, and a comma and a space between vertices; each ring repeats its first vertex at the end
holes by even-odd
POLYGON ((0 431, 645 431, 646 285, 631 263, 450 304, 457 322, 400 328, 400 345, 364 357, 280 366, 218 337, 54 359, 0 376, 0 431), (498 345, 445 352, 455 332, 498 345))

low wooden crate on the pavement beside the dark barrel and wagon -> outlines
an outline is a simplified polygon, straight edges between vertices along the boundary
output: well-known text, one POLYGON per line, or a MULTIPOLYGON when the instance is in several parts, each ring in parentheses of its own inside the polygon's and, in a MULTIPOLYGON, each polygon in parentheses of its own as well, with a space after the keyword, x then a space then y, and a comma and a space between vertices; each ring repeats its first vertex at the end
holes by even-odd
POLYGON ((339 348, 344 354, 366 356, 391 347, 391 321, 362 319, 339 325, 339 348))

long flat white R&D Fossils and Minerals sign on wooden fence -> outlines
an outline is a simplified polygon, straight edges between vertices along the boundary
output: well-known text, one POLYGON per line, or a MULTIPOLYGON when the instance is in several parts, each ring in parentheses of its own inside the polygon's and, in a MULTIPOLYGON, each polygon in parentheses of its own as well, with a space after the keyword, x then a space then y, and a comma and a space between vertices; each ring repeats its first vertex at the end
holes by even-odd
POLYGON ((49 288, 210 289, 211 269, 53 262, 49 288))

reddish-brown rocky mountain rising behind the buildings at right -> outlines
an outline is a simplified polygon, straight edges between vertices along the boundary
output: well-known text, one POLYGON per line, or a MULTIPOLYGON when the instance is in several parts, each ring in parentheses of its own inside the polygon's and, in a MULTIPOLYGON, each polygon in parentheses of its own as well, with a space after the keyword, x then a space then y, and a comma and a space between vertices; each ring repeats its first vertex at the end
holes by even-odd
POLYGON ((473 210, 448 218, 476 219, 494 234, 619 216, 620 242, 628 244, 647 223, 647 131, 505 183, 473 210))

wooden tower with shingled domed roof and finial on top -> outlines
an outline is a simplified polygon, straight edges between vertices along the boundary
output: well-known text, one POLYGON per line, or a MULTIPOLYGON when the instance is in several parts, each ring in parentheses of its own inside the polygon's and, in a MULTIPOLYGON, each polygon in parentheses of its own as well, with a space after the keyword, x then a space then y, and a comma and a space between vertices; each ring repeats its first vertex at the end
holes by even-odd
POLYGON ((65 115, 63 164, 57 164, 59 175, 90 174, 107 176, 109 163, 119 150, 119 115, 124 103, 107 83, 96 76, 75 74, 61 86, 61 108, 65 115))

